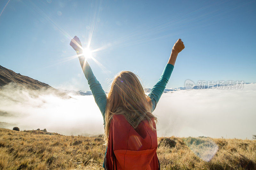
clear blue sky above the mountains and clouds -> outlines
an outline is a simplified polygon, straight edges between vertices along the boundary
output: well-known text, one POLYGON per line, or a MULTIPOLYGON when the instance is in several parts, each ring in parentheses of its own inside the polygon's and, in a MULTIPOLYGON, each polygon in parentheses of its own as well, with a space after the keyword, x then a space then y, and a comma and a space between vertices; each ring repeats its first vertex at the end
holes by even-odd
POLYGON ((167 88, 186 79, 255 82, 256 1, 7 2, 0 1, 0 65, 55 88, 89 90, 71 59, 75 35, 84 47, 90 37, 91 49, 104 47, 88 62, 106 91, 121 70, 153 87, 179 38, 185 49, 167 88))

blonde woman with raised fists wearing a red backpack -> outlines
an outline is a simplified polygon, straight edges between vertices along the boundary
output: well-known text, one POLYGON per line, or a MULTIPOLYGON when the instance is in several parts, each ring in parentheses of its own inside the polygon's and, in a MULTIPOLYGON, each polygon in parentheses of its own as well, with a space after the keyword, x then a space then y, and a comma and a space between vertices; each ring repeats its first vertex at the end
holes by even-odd
POLYGON ((164 88, 171 77, 176 58, 185 46, 179 39, 159 81, 148 96, 137 76, 130 71, 121 71, 113 80, 106 96, 90 65, 82 55, 83 48, 77 36, 71 42, 78 55, 85 78, 104 119, 107 150, 105 169, 160 169, 157 158, 156 108, 164 88))

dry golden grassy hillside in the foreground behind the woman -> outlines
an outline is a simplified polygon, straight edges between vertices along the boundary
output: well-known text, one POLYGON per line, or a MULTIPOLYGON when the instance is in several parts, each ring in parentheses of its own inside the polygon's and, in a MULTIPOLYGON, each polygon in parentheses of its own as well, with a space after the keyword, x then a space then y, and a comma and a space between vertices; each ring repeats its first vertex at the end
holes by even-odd
MULTIPOLYGON (((169 137, 158 143, 161 169, 256 169, 256 140, 169 137)), ((103 169, 103 144, 102 135, 0 129, 0 169, 103 169)))

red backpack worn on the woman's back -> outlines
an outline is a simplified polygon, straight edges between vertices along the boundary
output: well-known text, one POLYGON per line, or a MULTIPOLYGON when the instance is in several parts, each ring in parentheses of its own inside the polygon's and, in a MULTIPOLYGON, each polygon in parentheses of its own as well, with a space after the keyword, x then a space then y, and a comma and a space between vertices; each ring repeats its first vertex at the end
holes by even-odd
MULTIPOLYGON (((156 128, 155 121, 153 127, 156 128)), ((147 120, 133 129, 124 115, 114 115, 109 128, 105 169, 160 170, 156 149, 156 130, 152 130, 147 120)))

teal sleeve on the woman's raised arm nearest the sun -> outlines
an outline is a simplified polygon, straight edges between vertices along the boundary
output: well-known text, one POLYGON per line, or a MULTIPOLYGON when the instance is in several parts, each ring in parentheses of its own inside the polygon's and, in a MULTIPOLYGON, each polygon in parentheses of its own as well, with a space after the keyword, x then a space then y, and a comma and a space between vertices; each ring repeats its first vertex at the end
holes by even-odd
POLYGON ((85 63, 84 75, 88 81, 94 100, 98 105, 98 107, 100 108, 100 112, 103 116, 104 127, 105 127, 105 110, 106 110, 106 104, 107 104, 107 95, 102 89, 100 82, 94 76, 92 69, 87 61, 85 63))

